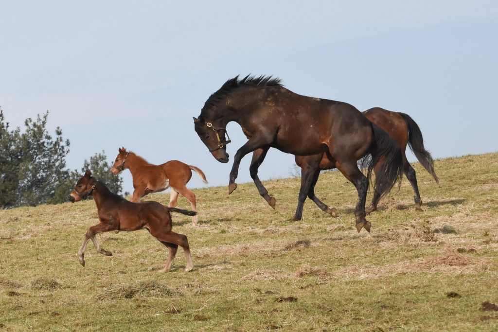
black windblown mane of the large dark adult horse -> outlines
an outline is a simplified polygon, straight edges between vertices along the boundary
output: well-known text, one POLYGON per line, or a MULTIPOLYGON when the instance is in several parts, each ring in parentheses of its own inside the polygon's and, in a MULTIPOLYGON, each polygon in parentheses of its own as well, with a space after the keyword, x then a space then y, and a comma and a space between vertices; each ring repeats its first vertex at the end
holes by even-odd
POLYGON ((239 80, 239 75, 228 80, 222 87, 209 96, 208 100, 204 104, 201 113, 204 111, 213 108, 219 101, 225 99, 230 93, 234 90, 243 88, 243 87, 253 87, 253 88, 261 88, 261 87, 283 87, 282 81, 278 77, 264 76, 261 75, 259 77, 248 75, 243 79, 239 80))

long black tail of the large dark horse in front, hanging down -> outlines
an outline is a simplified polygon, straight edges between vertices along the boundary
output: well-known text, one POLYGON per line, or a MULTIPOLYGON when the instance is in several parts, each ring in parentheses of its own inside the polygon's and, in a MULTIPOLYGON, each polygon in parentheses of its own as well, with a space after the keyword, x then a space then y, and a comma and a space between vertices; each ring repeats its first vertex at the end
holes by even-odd
MULTIPOLYGON (((371 122, 372 123, 372 122, 371 122)), ((371 156, 367 156, 362 161, 362 166, 366 166, 367 177, 372 178, 372 171, 375 168, 375 184, 373 194, 380 194, 380 197, 387 194, 394 184, 401 184, 403 176, 403 159, 399 145, 381 128, 372 123, 373 141, 370 146, 371 156)))

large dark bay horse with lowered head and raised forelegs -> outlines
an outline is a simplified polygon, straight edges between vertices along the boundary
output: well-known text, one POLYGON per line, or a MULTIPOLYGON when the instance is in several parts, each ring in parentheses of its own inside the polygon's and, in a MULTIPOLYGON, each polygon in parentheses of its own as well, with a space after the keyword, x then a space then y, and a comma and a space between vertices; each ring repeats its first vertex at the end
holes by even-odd
MULTIPOLYGON (((226 145, 230 141, 225 138, 225 128, 230 121, 239 123, 248 141, 235 155, 229 194, 237 188, 235 180, 241 159, 256 149, 262 152, 252 159, 251 176, 257 173, 270 147, 294 155, 325 153, 358 191, 355 211, 358 231, 363 227, 370 231, 371 224, 365 219, 365 202, 373 168, 383 160, 373 188, 374 193, 381 196, 402 176, 399 146, 355 107, 295 94, 285 89, 279 79, 265 76, 230 79, 209 97, 199 117, 194 117, 199 138, 223 163, 229 160, 226 145), (366 177, 358 168, 357 160, 369 153, 372 158, 368 161, 366 177)), ((259 193, 263 190, 264 187, 258 187, 259 193)), ((301 213, 296 211, 295 219, 300 217, 301 213)))

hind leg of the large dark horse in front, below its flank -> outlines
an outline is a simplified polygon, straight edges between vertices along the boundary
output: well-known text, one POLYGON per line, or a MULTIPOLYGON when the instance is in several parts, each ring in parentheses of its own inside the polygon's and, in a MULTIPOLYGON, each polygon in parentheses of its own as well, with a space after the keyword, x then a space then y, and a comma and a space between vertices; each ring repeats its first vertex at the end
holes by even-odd
POLYGON ((337 162, 337 169, 350 180, 356 187, 358 191, 358 204, 356 205, 355 217, 356 217, 356 229, 358 232, 365 228, 370 232, 371 223, 365 219, 367 215, 365 213, 365 202, 367 200, 367 190, 369 188, 369 180, 363 173, 358 169, 356 161, 346 161, 337 162))

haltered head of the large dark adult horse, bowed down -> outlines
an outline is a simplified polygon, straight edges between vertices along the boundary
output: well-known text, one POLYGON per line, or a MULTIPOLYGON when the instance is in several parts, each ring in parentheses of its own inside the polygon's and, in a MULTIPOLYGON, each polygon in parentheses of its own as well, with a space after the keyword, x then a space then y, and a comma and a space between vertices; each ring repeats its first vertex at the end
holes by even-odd
POLYGON ((230 143, 230 137, 227 134, 228 140, 225 138, 227 130, 214 122, 206 122, 201 116, 199 119, 194 117, 194 128, 213 157, 219 162, 228 163, 227 144, 230 143))

